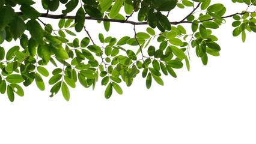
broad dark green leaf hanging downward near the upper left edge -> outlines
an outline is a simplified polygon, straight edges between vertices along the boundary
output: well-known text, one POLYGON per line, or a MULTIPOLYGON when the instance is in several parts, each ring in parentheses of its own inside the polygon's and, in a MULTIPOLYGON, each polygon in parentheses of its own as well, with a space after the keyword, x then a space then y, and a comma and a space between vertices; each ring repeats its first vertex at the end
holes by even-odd
POLYGON ((26 30, 26 24, 21 17, 16 17, 10 24, 10 32, 13 35, 14 40, 20 37, 26 30))

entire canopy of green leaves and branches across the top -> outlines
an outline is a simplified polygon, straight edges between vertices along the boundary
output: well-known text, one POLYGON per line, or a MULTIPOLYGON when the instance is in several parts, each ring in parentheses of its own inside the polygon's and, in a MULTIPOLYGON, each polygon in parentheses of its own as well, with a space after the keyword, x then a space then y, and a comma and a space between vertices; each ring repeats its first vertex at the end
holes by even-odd
POLYGON ((99 77, 106 86, 105 98, 110 98, 113 89, 118 94, 123 91, 118 83, 132 85, 137 74, 142 73, 146 87, 152 81, 163 85, 161 76, 170 74, 177 77, 174 69, 186 65, 189 71, 189 49, 195 48, 196 54, 204 65, 208 56, 219 56, 221 47, 212 34, 225 19, 233 17, 233 36, 247 32, 256 32, 256 13, 249 11, 255 7, 255 0, 232 0, 248 5, 239 13, 225 16, 223 4, 211 4, 211 0, 41 0, 46 13, 37 11, 32 0, 0 1, 0 92, 7 93, 10 101, 14 94, 24 95, 23 86, 35 81, 37 87, 44 91, 43 77, 50 76, 52 85, 50 97, 61 90, 64 98, 70 100, 69 88, 80 83, 85 88, 95 87, 99 77), (65 5, 61 14, 49 14, 65 5), (17 10, 16 5, 19 5, 17 10), (192 8, 186 17, 178 22, 169 20, 169 12, 174 8, 192 8), (200 10, 201 9, 201 10, 200 10), (75 11, 75 16, 69 14, 75 11), (135 15, 136 13, 136 15, 135 15), (136 20, 131 21, 132 16, 136 20), (58 28, 43 22, 40 17, 59 19, 58 28), (120 40, 99 34, 96 44, 85 27, 85 20, 97 20, 109 31, 112 22, 133 25, 134 35, 124 36, 120 40), (188 23, 189 28, 182 24, 188 23), (136 25, 145 25, 145 32, 136 32, 136 25), (75 29, 74 29, 75 28, 75 29), (159 33, 156 33, 158 30, 159 33), (76 38, 77 32, 85 32, 87 37, 76 38), (67 35, 75 38, 69 40, 67 35), (156 38, 160 46, 151 46, 156 38), (10 49, 2 43, 19 41, 19 46, 10 49), (135 51, 125 46, 134 46, 135 51), (146 48, 144 50, 144 48, 146 48), (52 74, 46 65, 52 63, 56 68, 52 74), (58 67, 57 63, 61 64, 58 67))

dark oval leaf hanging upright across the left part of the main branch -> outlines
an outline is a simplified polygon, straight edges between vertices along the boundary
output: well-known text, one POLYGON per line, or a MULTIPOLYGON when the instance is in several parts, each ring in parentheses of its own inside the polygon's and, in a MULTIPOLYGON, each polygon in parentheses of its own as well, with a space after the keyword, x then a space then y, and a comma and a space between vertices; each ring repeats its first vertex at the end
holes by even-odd
MULTIPOLYGON (((75 23, 76 23, 76 25, 75 25, 76 31, 81 32, 82 29, 84 28, 84 24, 85 24, 85 11, 82 7, 79 8, 78 11, 76 12, 75 23)), ((65 29, 65 30, 67 30, 67 29, 65 29)), ((67 32, 67 33, 69 34, 69 32, 67 32)), ((73 34, 70 34, 70 35, 73 35, 73 34)))

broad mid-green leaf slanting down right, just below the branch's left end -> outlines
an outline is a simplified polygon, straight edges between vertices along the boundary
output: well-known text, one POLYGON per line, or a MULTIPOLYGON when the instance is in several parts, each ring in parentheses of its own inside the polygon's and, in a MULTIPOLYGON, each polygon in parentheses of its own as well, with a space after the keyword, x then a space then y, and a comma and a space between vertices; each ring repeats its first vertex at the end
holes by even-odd
POLYGON ((26 27, 31 34, 31 38, 34 38, 34 40, 36 40, 39 44, 44 44, 44 30, 43 28, 41 28, 41 25, 36 20, 29 20, 26 23, 26 27))

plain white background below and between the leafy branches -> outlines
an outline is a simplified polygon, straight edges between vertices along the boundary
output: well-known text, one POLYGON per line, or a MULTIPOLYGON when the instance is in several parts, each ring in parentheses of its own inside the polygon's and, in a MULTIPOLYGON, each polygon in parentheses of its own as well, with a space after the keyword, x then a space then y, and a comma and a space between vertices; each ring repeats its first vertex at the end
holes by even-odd
MULTIPOLYGON (((246 9, 245 4, 222 3, 225 16, 246 9)), ((139 74, 129 88, 122 85, 123 95, 114 91, 109 100, 100 81, 94 91, 70 88, 69 102, 61 92, 50 98, 47 84, 41 92, 33 83, 14 103, 0 95, 0 143, 256 143, 255 34, 242 43, 240 36, 232 36, 231 22, 213 30, 221 56, 209 56, 204 66, 191 49, 190 71, 184 67, 175 70, 177 79, 163 77, 165 86, 153 82, 148 90, 139 74)), ((134 35, 132 25, 111 24, 108 34, 96 24, 87 26, 96 40, 99 32, 118 40, 134 35)))

